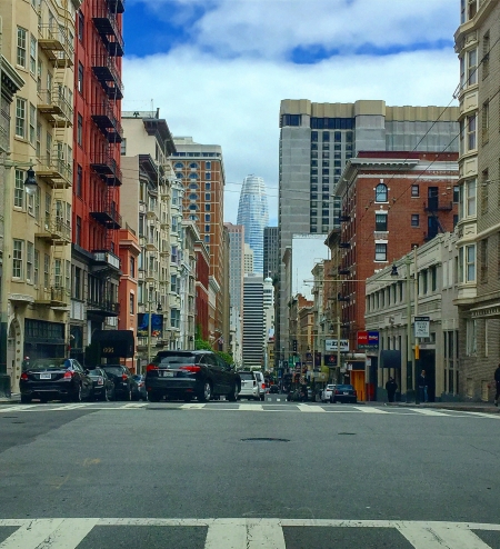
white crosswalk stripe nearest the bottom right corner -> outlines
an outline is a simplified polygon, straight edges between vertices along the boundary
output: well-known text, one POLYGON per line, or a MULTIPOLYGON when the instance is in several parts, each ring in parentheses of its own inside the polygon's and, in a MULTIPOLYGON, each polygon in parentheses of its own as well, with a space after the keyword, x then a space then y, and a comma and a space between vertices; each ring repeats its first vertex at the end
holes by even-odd
POLYGON ((457 525, 406 522, 397 529, 414 549, 490 549, 474 532, 457 525))

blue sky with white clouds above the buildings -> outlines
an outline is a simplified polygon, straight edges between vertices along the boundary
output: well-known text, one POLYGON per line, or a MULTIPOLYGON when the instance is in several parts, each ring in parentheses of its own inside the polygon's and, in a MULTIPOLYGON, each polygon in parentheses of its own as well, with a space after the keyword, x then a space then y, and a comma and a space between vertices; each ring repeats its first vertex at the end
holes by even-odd
POLYGON ((226 214, 264 178, 277 219, 281 99, 452 101, 458 0, 128 0, 124 110, 221 144, 226 214))

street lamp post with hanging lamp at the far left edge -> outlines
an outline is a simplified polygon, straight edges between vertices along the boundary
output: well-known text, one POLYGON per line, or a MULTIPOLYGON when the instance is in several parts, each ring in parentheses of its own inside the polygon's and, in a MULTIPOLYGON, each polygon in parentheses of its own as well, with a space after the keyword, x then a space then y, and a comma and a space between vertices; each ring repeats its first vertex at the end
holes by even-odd
POLYGON ((12 251, 11 251, 11 234, 12 227, 12 189, 11 170, 12 168, 29 168, 24 180, 24 189, 28 194, 34 194, 38 189, 37 179, 34 177, 33 164, 31 162, 13 162, 6 160, 3 164, 9 173, 3 181, 3 250, 2 250, 2 283, 0 285, 0 397, 10 397, 10 376, 7 373, 7 340, 9 335, 9 296, 7 292, 8 281, 12 278, 12 251), (6 232, 8 231, 8 236, 6 232))

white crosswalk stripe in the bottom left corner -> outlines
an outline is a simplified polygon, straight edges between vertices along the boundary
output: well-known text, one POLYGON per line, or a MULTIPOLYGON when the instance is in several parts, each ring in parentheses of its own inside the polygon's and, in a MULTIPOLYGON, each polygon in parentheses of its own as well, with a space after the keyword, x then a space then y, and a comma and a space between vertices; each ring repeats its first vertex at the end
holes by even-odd
POLYGON ((0 543, 0 549, 74 549, 99 519, 27 521, 0 543))

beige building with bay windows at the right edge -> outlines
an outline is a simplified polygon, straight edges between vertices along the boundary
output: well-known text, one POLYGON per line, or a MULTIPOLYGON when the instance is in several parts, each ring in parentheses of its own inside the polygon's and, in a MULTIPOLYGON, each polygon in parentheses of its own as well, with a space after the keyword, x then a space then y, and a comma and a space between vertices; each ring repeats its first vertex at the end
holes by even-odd
POLYGON ((500 358, 500 1, 461 2, 458 297, 462 397, 489 400, 500 358))

